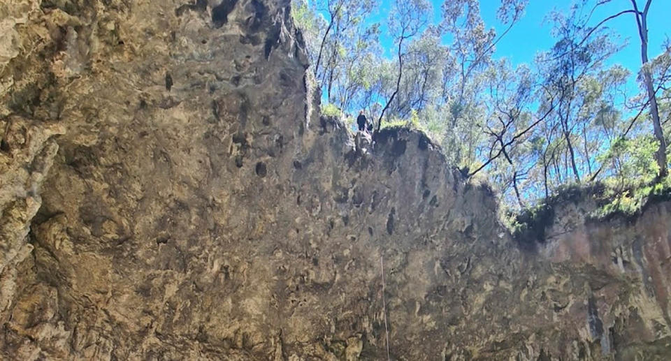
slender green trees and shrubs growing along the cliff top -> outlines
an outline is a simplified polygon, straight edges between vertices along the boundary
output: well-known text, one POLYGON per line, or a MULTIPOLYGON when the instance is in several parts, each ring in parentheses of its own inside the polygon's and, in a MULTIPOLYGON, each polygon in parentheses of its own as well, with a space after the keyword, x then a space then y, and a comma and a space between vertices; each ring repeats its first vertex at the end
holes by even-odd
POLYGON ((352 124, 347 115, 364 109, 378 126, 425 131, 508 209, 547 207, 580 184, 603 185, 601 216, 637 212, 669 182, 671 43, 651 47, 664 29, 647 22, 663 1, 551 11, 554 45, 525 40, 535 59, 512 64, 496 48, 526 5, 500 1, 496 23, 476 0, 294 0, 293 12, 326 114, 352 124), (612 60, 628 41, 640 54, 634 67, 612 60))

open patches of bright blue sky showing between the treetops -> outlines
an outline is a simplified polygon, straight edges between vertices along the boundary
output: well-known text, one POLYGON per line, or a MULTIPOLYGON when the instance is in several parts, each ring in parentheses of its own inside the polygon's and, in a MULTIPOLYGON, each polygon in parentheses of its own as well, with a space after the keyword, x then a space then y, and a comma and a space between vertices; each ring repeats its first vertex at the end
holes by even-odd
MULTIPOLYGON (((643 6, 643 0, 637 0, 639 6, 643 6)), ((384 22, 391 8, 392 0, 382 0, 378 13, 373 14, 371 21, 384 22)), ((440 19, 440 6, 442 0, 431 0, 433 3, 434 21, 440 19)), ((550 31, 552 23, 545 21, 546 15, 553 9, 568 11, 572 1, 568 0, 530 0, 526 7, 524 17, 510 30, 510 32, 498 43, 495 57, 506 57, 512 64, 530 64, 537 52, 549 50, 554 44, 550 31)), ((486 27, 494 27, 497 33, 503 31, 504 27, 496 19, 496 9, 500 0, 480 1, 480 11, 486 27)), ((600 6, 592 16, 596 25, 600 20, 609 15, 619 13, 621 10, 631 8, 630 0, 612 0, 604 6, 600 6)), ((649 50, 650 59, 661 54, 664 40, 671 37, 671 0, 653 0, 648 15, 649 50)), ((621 40, 628 40, 628 45, 609 59, 609 64, 621 64, 632 73, 637 73, 641 66, 640 40, 638 38, 636 21, 633 14, 625 14, 610 20, 605 24, 613 29, 621 40)), ((382 38, 382 45, 388 54, 393 54, 393 44, 390 38, 382 38)))

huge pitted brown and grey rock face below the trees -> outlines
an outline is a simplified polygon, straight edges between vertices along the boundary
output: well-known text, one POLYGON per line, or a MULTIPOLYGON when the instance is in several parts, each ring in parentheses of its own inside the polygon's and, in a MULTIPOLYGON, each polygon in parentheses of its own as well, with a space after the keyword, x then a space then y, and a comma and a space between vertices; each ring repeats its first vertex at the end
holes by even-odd
POLYGON ((319 118, 288 0, 0 33, 0 358, 671 358, 671 203, 514 240, 424 135, 319 118))

